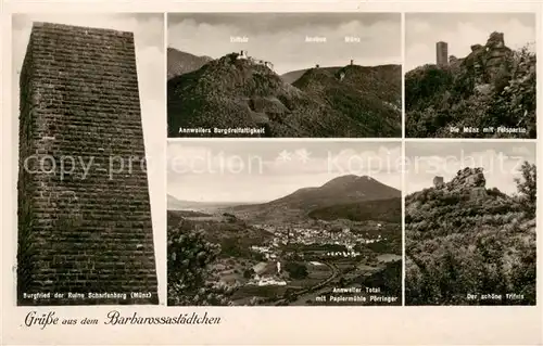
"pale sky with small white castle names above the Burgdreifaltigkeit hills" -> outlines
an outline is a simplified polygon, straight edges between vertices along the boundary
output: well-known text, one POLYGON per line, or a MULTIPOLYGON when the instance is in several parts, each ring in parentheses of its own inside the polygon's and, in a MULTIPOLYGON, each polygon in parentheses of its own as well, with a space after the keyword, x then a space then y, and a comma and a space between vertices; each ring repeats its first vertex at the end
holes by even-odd
POLYGON ((247 50, 269 61, 279 74, 320 66, 401 63, 399 13, 220 13, 169 14, 168 47, 214 59, 247 50), (230 43, 245 36, 248 43, 230 43), (324 36, 326 43, 306 43, 306 36, 324 36), (361 38, 345 43, 345 36, 361 38))

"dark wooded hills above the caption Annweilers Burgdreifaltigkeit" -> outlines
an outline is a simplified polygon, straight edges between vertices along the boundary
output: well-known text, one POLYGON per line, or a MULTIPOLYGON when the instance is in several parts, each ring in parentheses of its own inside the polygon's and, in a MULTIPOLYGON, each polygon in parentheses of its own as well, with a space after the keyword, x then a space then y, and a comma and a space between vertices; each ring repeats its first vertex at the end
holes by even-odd
POLYGON ((313 68, 292 86, 270 64, 224 55, 167 81, 168 137, 213 136, 179 133, 180 128, 257 128, 261 137, 400 137, 400 69, 356 76, 369 71, 364 68, 345 66, 343 77, 324 82, 312 81, 313 68), (355 80, 372 86, 355 88, 355 80), (384 98, 388 90, 393 95, 384 98))

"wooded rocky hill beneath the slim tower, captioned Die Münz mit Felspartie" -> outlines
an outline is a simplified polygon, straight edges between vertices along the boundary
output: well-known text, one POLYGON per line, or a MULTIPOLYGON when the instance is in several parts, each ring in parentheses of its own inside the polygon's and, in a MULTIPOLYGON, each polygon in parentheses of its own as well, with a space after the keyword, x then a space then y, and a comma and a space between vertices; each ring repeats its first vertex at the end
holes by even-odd
POLYGON ((512 50, 503 34, 492 33, 467 56, 451 56, 447 66, 407 72, 405 111, 407 137, 535 138, 535 53, 512 50), (491 127, 494 132, 483 133, 491 127))

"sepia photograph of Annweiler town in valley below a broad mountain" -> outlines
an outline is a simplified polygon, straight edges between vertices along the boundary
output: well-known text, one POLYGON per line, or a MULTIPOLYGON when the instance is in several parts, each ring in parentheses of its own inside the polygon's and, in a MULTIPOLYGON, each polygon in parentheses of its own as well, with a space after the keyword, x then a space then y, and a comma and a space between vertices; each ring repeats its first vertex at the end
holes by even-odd
POLYGON ((169 306, 401 306, 399 142, 168 141, 169 306))

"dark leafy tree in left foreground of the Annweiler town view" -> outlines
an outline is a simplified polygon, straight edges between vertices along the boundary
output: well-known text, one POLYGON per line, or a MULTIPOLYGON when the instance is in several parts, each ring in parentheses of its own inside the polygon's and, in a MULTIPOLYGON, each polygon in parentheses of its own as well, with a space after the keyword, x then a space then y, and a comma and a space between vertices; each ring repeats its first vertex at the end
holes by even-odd
POLYGON ((232 290, 218 285, 210 268, 220 246, 182 221, 167 236, 168 305, 229 305, 232 290))

